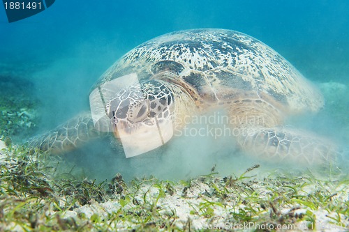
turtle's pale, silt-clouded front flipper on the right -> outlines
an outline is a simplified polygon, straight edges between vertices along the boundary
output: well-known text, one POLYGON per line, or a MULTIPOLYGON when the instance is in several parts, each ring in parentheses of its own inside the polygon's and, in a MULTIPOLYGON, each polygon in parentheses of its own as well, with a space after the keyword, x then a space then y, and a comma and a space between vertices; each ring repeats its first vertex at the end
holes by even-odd
POLYGON ((339 146, 322 137, 285 127, 251 127, 240 130, 239 146, 263 160, 301 165, 334 163, 341 156, 339 146))

